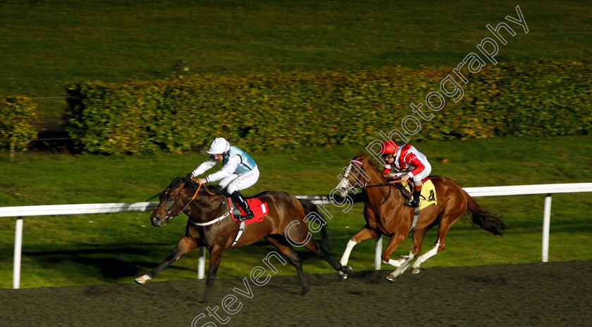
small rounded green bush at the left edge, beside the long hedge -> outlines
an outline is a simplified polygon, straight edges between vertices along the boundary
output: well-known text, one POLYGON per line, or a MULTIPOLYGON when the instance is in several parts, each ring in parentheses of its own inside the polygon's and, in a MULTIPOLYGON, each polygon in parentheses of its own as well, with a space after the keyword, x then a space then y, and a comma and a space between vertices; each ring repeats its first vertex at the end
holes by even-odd
POLYGON ((37 137, 37 105, 24 96, 0 100, 0 146, 27 150, 37 137))

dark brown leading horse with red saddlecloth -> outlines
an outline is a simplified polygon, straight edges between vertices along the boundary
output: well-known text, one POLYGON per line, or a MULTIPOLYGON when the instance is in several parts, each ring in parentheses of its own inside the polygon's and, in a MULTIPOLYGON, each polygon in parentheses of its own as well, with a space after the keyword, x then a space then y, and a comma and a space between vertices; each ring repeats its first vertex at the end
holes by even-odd
MULTIPOLYGON (((235 222, 228 214, 230 205, 226 193, 219 187, 213 186, 213 193, 190 178, 177 177, 159 198, 159 206, 152 212, 150 221, 154 226, 162 226, 168 219, 184 212, 187 214, 185 236, 177 243, 175 250, 168 255, 161 264, 148 274, 135 279, 137 283, 145 283, 154 278, 162 269, 177 261, 190 250, 204 246, 210 253, 210 266, 206 281, 204 302, 208 300, 216 271, 222 258, 222 252, 235 243, 239 233, 240 222, 235 222)), ((316 205, 309 200, 299 200, 287 192, 265 191, 255 195, 261 202, 267 203, 269 213, 261 222, 245 225, 242 236, 234 247, 251 245, 261 238, 273 244, 280 252, 288 257, 296 267, 302 294, 309 290, 309 286, 297 252, 290 247, 304 246, 325 259, 331 266, 342 274, 350 274, 352 269, 343 266, 317 244, 309 233, 308 224, 316 222, 320 226, 323 242, 328 242, 327 226, 319 214, 316 205), (308 221, 308 222, 307 222, 308 221)), ((315 228, 317 229, 317 228, 315 228)), ((269 256, 268 256, 269 257, 269 256)), ((268 258, 269 259, 269 258, 268 258)))

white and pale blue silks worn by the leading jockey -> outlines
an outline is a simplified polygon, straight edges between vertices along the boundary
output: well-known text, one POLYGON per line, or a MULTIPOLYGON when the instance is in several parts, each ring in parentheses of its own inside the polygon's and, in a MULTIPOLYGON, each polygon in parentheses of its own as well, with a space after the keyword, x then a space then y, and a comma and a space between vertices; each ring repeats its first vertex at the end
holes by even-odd
MULTIPOLYGON (((197 177, 211 169, 218 162, 214 157, 202 162, 192 172, 192 177, 197 177)), ((220 181, 220 186, 226 188, 229 194, 235 191, 244 190, 257 183, 259 179, 259 168, 250 155, 237 146, 230 146, 228 154, 222 160, 223 167, 209 174, 205 179, 207 182, 220 181)))

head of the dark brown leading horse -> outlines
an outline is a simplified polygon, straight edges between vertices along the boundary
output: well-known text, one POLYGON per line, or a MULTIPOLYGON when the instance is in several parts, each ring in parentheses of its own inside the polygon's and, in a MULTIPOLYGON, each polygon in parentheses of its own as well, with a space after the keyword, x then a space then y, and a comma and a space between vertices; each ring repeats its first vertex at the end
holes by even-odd
POLYGON ((177 177, 161 193, 159 206, 156 207, 150 216, 150 222, 152 222, 153 226, 160 227, 166 224, 168 219, 178 216, 183 211, 183 208, 188 203, 188 200, 183 196, 183 188, 185 188, 186 181, 187 178, 177 177))

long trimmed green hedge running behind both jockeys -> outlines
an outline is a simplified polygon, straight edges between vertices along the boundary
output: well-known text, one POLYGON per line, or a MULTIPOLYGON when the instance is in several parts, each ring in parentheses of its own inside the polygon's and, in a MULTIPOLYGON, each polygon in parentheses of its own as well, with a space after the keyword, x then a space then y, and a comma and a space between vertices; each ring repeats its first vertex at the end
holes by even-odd
MULTIPOLYGON (((66 129, 91 153, 195 150, 216 136, 252 150, 368 144, 401 129, 410 103, 440 91, 450 69, 277 72, 244 77, 101 82, 68 86, 66 129)), ((465 74, 467 75, 467 74, 465 74)), ((464 97, 421 120, 409 140, 587 134, 588 63, 486 65, 464 97)), ((455 78, 460 82, 458 78, 455 78)), ((416 115, 417 116, 417 115, 416 115)), ((419 118, 419 116, 417 116, 419 118)))

